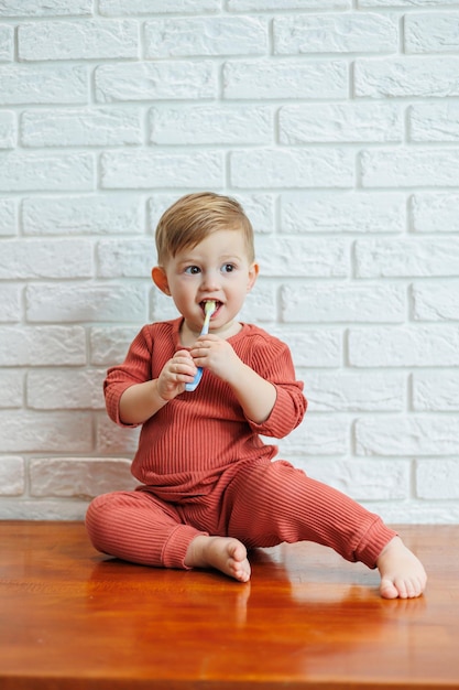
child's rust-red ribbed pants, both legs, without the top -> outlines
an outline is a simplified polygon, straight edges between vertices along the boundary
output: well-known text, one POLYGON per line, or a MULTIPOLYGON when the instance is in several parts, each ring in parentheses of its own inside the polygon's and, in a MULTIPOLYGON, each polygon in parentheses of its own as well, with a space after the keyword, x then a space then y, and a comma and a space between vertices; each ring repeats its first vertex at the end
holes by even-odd
POLYGON ((99 551, 166 568, 186 568, 188 546, 198 535, 237 537, 249 549, 315 541, 374 568, 396 533, 283 460, 230 467, 210 494, 189 502, 161 500, 147 487, 103 494, 90 504, 86 526, 99 551))

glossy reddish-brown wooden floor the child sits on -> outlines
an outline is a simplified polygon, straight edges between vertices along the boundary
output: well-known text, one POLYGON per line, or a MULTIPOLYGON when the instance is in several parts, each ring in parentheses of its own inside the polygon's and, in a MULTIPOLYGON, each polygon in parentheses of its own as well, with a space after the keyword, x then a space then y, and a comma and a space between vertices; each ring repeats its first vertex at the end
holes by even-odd
POLYGON ((459 526, 402 536, 418 600, 312 543, 253 552, 240 584, 107 559, 79 522, 0 522, 0 689, 459 689, 459 526))

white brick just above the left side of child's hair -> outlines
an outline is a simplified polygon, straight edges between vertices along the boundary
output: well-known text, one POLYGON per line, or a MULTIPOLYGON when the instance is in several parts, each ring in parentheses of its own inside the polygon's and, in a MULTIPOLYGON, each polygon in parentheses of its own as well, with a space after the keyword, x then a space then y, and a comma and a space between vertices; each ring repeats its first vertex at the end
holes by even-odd
POLYGON ((156 153, 112 151, 101 154, 101 184, 105 188, 219 187, 223 184, 220 151, 156 153))

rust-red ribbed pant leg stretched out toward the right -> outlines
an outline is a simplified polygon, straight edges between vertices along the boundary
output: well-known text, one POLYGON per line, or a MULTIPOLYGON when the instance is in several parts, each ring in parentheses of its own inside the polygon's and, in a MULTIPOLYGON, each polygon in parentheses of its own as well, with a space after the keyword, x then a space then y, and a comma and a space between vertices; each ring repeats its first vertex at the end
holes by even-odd
POLYGON ((227 487, 222 515, 227 533, 248 547, 314 541, 369 568, 396 535, 378 515, 282 460, 242 468, 227 487))

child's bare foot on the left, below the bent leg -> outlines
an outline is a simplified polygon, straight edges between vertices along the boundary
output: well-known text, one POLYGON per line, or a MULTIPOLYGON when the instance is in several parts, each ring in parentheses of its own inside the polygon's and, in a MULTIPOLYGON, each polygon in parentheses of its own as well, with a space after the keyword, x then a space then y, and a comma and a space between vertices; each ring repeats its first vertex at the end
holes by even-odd
POLYGON ((239 582, 250 580, 247 549, 239 539, 232 537, 195 537, 186 552, 185 565, 216 568, 239 582))

